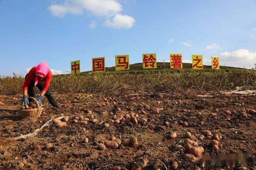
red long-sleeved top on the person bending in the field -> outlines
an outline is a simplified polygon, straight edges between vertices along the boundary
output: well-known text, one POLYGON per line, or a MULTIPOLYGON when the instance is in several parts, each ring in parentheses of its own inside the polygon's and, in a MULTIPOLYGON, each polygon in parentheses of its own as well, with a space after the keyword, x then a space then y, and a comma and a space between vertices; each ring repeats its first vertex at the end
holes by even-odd
MULTIPOLYGON (((51 70, 49 70, 48 74, 46 74, 45 77, 39 77, 38 83, 44 82, 43 91, 47 91, 51 82, 51 78, 52 78, 51 70)), ((28 90, 28 85, 30 84, 31 80, 35 81, 35 79, 36 79, 36 69, 35 67, 32 67, 32 69, 28 72, 27 78, 25 79, 23 90, 28 90)))

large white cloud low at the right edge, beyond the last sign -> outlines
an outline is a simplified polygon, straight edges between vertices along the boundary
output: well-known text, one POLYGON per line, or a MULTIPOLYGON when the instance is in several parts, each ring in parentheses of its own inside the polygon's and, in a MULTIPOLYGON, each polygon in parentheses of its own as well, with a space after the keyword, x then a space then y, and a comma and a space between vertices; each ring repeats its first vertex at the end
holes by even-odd
POLYGON ((250 68, 256 63, 256 52, 249 52, 247 49, 236 51, 225 51, 220 55, 220 65, 250 68))

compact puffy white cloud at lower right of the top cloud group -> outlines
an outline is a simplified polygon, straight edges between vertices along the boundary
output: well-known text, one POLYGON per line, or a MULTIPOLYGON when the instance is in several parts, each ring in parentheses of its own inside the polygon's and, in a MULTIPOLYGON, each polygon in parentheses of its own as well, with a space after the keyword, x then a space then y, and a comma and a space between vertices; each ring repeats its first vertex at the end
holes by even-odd
POLYGON ((116 14, 112 19, 107 19, 104 22, 105 26, 113 28, 131 28, 135 23, 135 19, 128 15, 116 14))

